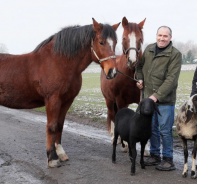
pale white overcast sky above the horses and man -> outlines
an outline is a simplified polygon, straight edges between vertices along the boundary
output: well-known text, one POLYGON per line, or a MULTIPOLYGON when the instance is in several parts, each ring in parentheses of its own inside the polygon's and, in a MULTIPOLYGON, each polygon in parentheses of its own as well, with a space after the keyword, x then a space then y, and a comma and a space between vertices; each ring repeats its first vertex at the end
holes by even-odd
MULTIPOLYGON (((161 25, 172 29, 175 41, 197 44, 197 0, 0 0, 0 43, 10 54, 31 52, 61 28, 79 24, 116 24, 144 18, 144 43, 155 42, 161 25)), ((117 30, 121 49, 122 25, 117 30)))

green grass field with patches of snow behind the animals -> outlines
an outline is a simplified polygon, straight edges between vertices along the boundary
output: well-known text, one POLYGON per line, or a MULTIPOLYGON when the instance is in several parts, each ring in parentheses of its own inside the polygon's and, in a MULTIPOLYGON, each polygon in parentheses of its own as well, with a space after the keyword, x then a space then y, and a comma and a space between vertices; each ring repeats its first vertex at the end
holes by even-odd
MULTIPOLYGON (((177 90, 175 117, 180 106, 190 96, 193 75, 194 71, 181 71, 177 90)), ((83 73, 82 76, 83 82, 81 91, 75 98, 69 112, 89 117, 93 121, 106 122, 107 107, 101 93, 100 73, 83 73)), ((130 108, 134 110, 136 107, 137 104, 130 105, 130 108)), ((44 108, 42 108, 42 110, 44 110, 44 108)))

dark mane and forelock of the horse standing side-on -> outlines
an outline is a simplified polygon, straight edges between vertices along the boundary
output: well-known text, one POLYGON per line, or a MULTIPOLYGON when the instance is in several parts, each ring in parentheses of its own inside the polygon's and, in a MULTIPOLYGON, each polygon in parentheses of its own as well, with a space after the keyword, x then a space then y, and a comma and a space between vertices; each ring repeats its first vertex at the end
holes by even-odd
MULTIPOLYGON (((102 39, 107 39, 108 37, 117 40, 117 35, 113 27, 108 24, 103 25, 103 31, 101 33, 102 39)), ((53 50, 55 54, 59 53, 67 58, 71 58, 79 53, 79 51, 91 44, 91 40, 95 38, 95 31, 93 25, 85 26, 70 26, 65 27, 58 33, 50 36, 43 42, 41 42, 33 52, 37 52, 43 46, 51 42, 53 38, 54 45, 53 50)))

